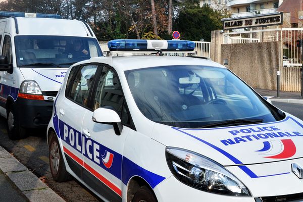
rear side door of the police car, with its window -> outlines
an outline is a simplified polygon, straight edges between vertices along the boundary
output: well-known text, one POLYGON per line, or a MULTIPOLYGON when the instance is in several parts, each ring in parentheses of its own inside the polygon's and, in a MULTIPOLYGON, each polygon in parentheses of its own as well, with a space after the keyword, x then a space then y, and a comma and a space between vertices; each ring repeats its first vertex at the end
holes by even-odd
POLYGON ((80 178, 84 167, 81 126, 97 67, 97 65, 74 67, 69 74, 65 96, 56 106, 63 151, 69 167, 80 178))

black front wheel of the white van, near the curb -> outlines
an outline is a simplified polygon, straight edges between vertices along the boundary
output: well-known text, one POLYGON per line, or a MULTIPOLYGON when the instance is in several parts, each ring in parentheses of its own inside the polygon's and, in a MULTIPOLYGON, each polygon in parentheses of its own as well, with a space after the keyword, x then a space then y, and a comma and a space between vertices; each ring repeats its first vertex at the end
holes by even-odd
POLYGON ((26 129, 20 126, 19 117, 14 108, 7 109, 7 130, 10 139, 23 139, 27 137, 26 129))

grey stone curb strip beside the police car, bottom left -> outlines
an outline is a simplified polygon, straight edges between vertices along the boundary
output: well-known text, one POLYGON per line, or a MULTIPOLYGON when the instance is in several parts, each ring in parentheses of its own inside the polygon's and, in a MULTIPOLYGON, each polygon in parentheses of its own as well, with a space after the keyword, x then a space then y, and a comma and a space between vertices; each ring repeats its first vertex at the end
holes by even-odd
POLYGON ((63 198, 1 146, 0 170, 30 202, 65 202, 63 198))

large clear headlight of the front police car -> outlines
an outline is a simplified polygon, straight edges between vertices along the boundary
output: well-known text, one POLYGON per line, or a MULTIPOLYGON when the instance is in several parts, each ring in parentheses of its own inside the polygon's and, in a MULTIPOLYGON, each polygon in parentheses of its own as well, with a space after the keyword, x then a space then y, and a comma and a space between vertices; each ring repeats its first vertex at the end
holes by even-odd
POLYGON ((250 196, 249 190, 240 180, 207 157, 167 147, 166 160, 173 175, 188 186, 219 194, 250 196))

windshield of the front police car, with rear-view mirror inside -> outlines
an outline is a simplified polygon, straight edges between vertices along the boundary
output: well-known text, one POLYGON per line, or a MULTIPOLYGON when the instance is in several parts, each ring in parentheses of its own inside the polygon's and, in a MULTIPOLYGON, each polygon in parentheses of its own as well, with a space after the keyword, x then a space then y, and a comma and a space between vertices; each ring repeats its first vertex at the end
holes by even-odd
POLYGON ((125 75, 141 113, 158 123, 202 128, 234 120, 234 125, 273 122, 284 116, 224 68, 165 66, 125 75))

